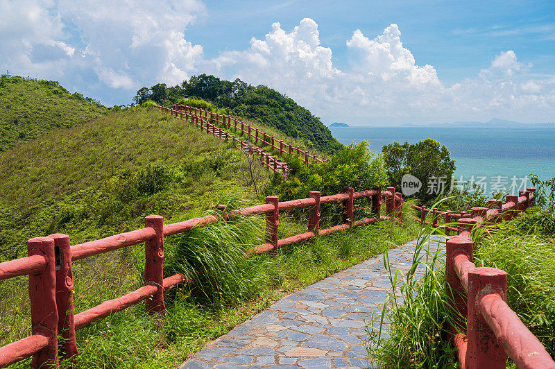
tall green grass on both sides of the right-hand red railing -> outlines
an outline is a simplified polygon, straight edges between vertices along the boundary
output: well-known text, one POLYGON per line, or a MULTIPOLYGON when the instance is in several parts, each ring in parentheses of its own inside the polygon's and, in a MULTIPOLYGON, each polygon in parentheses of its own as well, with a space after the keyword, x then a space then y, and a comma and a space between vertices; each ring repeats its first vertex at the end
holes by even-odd
MULTIPOLYGON (((540 228, 543 232, 533 228, 536 221, 534 214, 524 214, 480 228, 472 234, 474 262, 508 273, 509 307, 555 357, 555 239, 554 234, 545 234, 545 228, 540 228)), ((417 252, 429 235, 437 232, 441 231, 422 226, 417 252)), ((392 286, 402 280, 398 295, 392 293, 383 311, 377 311, 373 324, 367 326, 368 352, 380 368, 458 365, 456 352, 446 339, 447 327, 456 325, 450 318, 454 316, 452 300, 445 290, 444 255, 440 250, 423 251, 424 259, 419 259, 417 252, 413 258, 413 268, 425 261, 420 265, 425 268, 421 279, 415 279, 412 272, 400 275, 389 270, 392 286)), ((464 330, 457 328, 457 332, 464 330)), ((507 366, 514 368, 510 360, 507 366)))

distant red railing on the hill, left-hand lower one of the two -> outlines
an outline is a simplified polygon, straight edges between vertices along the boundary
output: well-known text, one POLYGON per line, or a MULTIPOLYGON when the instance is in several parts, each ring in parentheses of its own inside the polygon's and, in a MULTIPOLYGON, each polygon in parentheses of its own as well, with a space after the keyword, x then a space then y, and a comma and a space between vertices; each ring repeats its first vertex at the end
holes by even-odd
POLYGON ((212 135, 219 137, 226 142, 229 142, 231 139, 232 142, 236 146, 239 145, 239 149, 241 149, 245 153, 249 153, 250 155, 259 155, 262 165, 266 166, 266 168, 270 169, 271 171, 279 171, 282 173, 282 175, 285 175, 287 171, 289 171, 289 167, 285 162, 278 160, 276 157, 273 157, 272 155, 266 153, 264 150, 262 150, 262 148, 259 148, 258 146, 255 146, 248 141, 243 141, 242 139, 238 139, 234 135, 230 135, 230 133, 210 123, 210 121, 207 121, 207 119, 204 119, 199 115, 191 114, 184 110, 170 109, 165 106, 161 106, 160 110, 162 110, 162 112, 164 112, 165 114, 176 117, 177 119, 189 121, 191 124, 198 126, 201 132, 203 130, 206 130, 207 133, 211 133, 212 135))

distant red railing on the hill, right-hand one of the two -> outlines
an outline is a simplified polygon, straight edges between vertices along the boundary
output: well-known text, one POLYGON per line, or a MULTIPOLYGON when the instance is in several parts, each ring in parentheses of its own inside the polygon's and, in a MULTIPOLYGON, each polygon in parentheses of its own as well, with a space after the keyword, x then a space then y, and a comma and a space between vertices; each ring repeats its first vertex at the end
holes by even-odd
POLYGON ((215 114, 208 110, 180 104, 173 105, 173 109, 185 111, 189 114, 209 119, 210 121, 214 121, 216 124, 221 124, 223 128, 233 127, 235 132, 240 132, 241 136, 247 137, 248 139, 254 139, 257 146, 262 148, 264 148, 264 146, 270 146, 271 148, 279 151, 281 156, 284 154, 296 155, 307 165, 313 164, 314 162, 324 162, 316 155, 311 155, 308 151, 304 151, 298 146, 287 144, 281 139, 275 139, 274 136, 268 135, 266 132, 259 130, 258 128, 253 128, 250 124, 246 124, 243 121, 238 121, 230 115, 215 114))

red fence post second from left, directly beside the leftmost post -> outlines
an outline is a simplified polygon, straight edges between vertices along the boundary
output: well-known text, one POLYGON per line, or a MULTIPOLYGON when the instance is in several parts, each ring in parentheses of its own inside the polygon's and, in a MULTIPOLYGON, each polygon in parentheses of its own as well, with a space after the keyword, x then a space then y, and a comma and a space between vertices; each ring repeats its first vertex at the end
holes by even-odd
POLYGON ((71 244, 67 234, 51 234, 49 238, 54 240, 54 255, 59 255, 56 260, 56 307, 58 309, 58 334, 61 334, 63 338, 60 357, 74 357, 79 352, 75 339, 71 244))

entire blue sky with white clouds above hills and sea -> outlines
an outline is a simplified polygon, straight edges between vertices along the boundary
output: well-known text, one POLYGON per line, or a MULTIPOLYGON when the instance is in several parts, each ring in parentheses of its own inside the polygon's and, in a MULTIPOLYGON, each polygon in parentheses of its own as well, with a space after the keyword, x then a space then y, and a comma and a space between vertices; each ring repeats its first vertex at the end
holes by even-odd
POLYGON ((6 69, 105 105, 205 73, 326 124, 554 122, 555 2, 0 0, 6 69))

